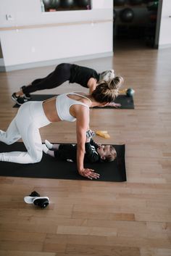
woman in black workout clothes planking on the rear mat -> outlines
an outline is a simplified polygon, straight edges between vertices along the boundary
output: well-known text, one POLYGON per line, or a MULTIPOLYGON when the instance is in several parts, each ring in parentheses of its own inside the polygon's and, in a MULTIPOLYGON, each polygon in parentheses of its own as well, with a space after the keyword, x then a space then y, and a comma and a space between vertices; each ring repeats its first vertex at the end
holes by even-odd
MULTIPOLYGON (((114 70, 107 70, 102 73, 97 73, 96 70, 89 67, 62 63, 57 65, 55 70, 45 78, 38 78, 33 80, 33 82, 28 86, 22 86, 20 91, 12 94, 12 99, 14 102, 21 105, 28 102, 28 99, 31 97, 30 93, 33 93, 34 91, 56 88, 67 80, 69 80, 70 83, 78 83, 80 86, 89 88, 89 93, 91 94, 99 81, 109 81, 113 78, 114 70)), ((114 102, 112 102, 112 106, 120 107, 120 104, 114 104, 114 102)))

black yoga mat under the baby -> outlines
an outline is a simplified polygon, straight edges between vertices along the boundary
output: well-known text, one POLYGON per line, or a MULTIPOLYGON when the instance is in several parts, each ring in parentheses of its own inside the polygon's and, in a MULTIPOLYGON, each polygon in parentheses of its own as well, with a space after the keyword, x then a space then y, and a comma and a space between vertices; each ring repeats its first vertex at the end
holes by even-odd
MULTIPOLYGON (((96 181, 126 181, 125 145, 114 145, 117 158, 114 162, 86 163, 85 167, 94 169, 100 174, 96 181)), ((0 142, 0 152, 25 151, 22 142, 6 145, 0 142)), ((43 153, 41 162, 36 164, 18 164, 0 161, 0 176, 25 178, 59 178, 69 180, 88 180, 78 174, 75 162, 57 160, 43 153)))

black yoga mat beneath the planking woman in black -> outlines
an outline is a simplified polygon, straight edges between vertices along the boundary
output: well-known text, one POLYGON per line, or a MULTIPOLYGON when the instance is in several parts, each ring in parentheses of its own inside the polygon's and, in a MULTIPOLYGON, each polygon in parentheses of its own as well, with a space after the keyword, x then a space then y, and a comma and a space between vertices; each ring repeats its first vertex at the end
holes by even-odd
MULTIPOLYGON (((43 101, 46 99, 49 99, 51 97, 56 96, 55 94, 31 94, 30 101, 43 101)), ((114 100, 115 103, 120 103, 121 107, 118 107, 117 109, 128 109, 133 110, 134 109, 134 102, 133 102, 133 96, 127 96, 125 94, 120 94, 117 96, 117 98, 114 100)), ((15 104, 13 107, 20 107, 20 105, 15 104)), ((116 109, 116 107, 93 107, 94 109, 116 109)))

